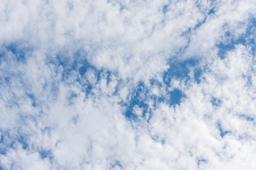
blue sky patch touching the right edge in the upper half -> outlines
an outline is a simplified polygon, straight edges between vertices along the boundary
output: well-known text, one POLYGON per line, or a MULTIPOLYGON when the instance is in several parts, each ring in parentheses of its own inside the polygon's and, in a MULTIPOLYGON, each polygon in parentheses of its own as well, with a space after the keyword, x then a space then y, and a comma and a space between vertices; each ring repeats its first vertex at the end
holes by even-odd
POLYGON ((230 39, 230 41, 227 43, 220 42, 219 44, 216 44, 216 46, 219 49, 218 55, 221 59, 225 58, 225 55, 228 51, 234 50, 235 46, 237 44, 243 44, 244 46, 250 46, 252 55, 255 55, 255 31, 256 31, 256 20, 255 18, 252 18, 247 26, 247 29, 244 34, 242 34, 238 39, 234 39, 229 31, 225 33, 225 37, 227 39, 230 39))

